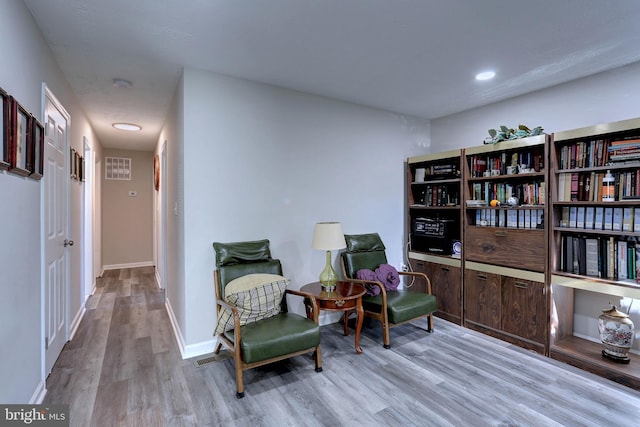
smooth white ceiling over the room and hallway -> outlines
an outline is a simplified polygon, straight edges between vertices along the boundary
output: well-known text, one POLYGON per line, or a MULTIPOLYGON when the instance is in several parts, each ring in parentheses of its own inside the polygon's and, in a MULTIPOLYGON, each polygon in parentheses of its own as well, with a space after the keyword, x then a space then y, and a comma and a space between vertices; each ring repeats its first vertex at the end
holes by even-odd
POLYGON ((433 119, 640 61, 637 0, 24 2, 111 148, 153 149, 183 67, 433 119))

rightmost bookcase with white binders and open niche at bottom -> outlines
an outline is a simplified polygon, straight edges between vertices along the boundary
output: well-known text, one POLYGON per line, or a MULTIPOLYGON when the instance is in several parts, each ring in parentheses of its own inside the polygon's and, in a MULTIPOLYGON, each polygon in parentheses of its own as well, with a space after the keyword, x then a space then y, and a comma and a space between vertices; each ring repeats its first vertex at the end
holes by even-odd
POLYGON ((600 312, 579 315, 581 332, 575 323, 578 301, 604 298, 620 308, 640 299, 640 119, 555 133, 549 160, 549 354, 640 389, 637 354, 628 365, 602 357, 600 312), (613 197, 603 201, 607 173, 614 178, 613 197), (592 325, 591 334, 585 323, 592 325))

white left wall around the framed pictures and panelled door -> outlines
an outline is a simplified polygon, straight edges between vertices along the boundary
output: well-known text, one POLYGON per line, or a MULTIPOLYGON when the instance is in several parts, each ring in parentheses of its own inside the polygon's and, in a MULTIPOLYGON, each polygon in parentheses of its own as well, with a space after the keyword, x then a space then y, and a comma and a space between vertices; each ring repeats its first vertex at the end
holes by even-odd
MULTIPOLYGON (((42 121, 42 82, 71 114, 70 140, 81 150, 87 136, 99 150, 91 128, 24 3, 0 1, 0 86, 42 121)), ((45 178, 46 179, 46 176, 45 178)), ((0 172, 0 402, 28 403, 42 398, 41 200, 43 181, 0 172)), ((80 239, 82 191, 71 189, 72 234, 80 239)), ((71 251, 71 320, 82 311, 80 247, 71 251)))

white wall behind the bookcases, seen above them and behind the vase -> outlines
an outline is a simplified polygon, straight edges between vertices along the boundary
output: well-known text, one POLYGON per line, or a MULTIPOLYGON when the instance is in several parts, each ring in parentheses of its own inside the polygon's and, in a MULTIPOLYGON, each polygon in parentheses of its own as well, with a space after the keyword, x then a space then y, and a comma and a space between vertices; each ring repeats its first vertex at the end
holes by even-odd
MULTIPOLYGON (((520 96, 483 108, 466 111, 431 122, 433 152, 481 145, 487 130, 500 125, 542 126, 546 133, 593 126, 640 117, 640 63, 520 96)), ((598 293, 577 291, 574 334, 599 342, 597 318, 609 302, 621 301, 598 293)), ((640 325, 640 301, 631 309, 631 318, 640 325)), ((640 351, 640 339, 633 345, 640 351)))

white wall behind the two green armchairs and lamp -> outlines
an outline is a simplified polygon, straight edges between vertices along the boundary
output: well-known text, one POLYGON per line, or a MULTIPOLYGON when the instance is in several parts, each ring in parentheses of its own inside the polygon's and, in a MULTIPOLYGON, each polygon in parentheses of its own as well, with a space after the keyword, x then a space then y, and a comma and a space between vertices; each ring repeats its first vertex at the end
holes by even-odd
POLYGON ((429 151, 428 121, 192 69, 183 87, 184 170, 170 159, 169 173, 184 184, 169 215, 178 203, 184 308, 174 311, 187 354, 213 345, 214 241, 270 239, 296 288, 324 266, 311 249, 318 221, 379 232, 390 262, 403 260, 404 164, 429 151))

